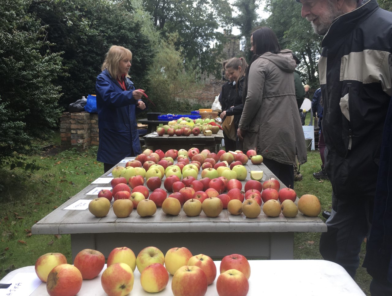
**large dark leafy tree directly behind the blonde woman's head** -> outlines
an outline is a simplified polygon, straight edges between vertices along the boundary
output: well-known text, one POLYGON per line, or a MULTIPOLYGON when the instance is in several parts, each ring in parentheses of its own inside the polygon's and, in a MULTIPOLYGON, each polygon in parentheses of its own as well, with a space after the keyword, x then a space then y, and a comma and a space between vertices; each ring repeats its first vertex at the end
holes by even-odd
POLYGON ((30 11, 47 26, 46 38, 54 45, 45 48, 62 52, 69 76, 58 81, 64 91, 62 105, 82 95, 95 93, 96 76, 111 45, 132 51, 132 80, 141 88, 154 52, 140 22, 122 2, 109 0, 33 1, 30 11))

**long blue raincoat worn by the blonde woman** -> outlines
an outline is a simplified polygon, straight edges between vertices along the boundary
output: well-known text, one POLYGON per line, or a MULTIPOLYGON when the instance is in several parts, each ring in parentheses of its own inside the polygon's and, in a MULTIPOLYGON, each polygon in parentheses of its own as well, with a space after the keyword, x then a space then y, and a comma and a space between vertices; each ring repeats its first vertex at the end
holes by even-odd
POLYGON ((142 153, 136 123, 136 114, 147 110, 136 107, 132 96, 133 82, 125 77, 123 90, 120 83, 105 69, 98 75, 95 84, 99 146, 97 161, 117 164, 124 157, 142 153))

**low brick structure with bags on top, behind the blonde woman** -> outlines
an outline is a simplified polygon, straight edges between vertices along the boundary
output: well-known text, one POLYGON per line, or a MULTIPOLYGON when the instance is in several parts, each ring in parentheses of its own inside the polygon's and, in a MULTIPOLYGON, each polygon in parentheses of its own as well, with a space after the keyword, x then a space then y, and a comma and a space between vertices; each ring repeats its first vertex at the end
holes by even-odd
POLYGON ((85 150, 98 145, 98 114, 65 112, 60 118, 61 148, 85 150))

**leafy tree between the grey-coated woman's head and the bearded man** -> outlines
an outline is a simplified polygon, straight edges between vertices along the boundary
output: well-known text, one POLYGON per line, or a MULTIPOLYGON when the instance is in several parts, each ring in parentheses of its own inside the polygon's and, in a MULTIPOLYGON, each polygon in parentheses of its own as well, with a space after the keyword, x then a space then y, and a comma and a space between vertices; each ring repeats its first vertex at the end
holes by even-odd
POLYGON ((301 5, 295 1, 267 0, 270 16, 265 25, 274 30, 282 49, 296 52, 301 60, 297 67, 303 83, 318 87, 318 59, 322 36, 313 32, 310 22, 301 17, 301 5))

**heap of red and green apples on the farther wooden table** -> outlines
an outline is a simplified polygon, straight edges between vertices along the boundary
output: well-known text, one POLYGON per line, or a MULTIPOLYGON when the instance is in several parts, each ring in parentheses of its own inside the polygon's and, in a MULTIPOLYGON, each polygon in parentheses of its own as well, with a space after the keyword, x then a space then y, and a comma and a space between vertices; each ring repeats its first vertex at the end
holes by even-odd
POLYGON ((158 127, 156 132, 158 136, 163 135, 171 136, 189 136, 199 135, 203 133, 204 135, 218 134, 220 130, 220 125, 215 123, 214 119, 190 119, 189 117, 181 117, 180 119, 169 121, 167 125, 158 127))

